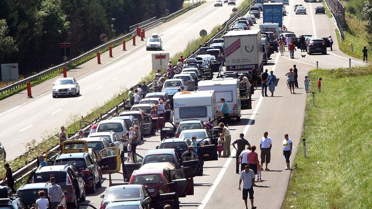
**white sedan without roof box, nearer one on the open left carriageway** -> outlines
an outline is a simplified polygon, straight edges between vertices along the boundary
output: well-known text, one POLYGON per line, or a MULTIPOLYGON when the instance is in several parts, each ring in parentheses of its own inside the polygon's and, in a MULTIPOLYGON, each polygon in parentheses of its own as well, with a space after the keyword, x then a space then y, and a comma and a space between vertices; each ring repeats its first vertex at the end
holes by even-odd
POLYGON ((80 94, 80 86, 75 78, 58 78, 52 85, 53 98, 67 95, 77 96, 80 94))

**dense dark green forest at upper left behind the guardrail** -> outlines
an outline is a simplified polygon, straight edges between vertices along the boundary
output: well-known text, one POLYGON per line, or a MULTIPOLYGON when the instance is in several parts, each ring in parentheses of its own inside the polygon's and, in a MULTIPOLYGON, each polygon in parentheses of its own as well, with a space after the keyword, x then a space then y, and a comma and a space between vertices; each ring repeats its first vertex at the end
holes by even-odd
POLYGON ((0 63, 18 63, 28 75, 60 64, 59 44, 71 57, 102 44, 129 26, 182 7, 183 0, 0 0, 0 63))

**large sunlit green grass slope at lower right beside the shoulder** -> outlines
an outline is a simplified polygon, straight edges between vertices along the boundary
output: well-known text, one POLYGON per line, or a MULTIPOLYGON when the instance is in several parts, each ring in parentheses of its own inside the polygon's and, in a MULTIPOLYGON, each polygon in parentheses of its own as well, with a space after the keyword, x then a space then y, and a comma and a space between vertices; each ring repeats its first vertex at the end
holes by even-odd
POLYGON ((294 160, 283 209, 371 208, 371 67, 312 70, 302 144, 294 160))

